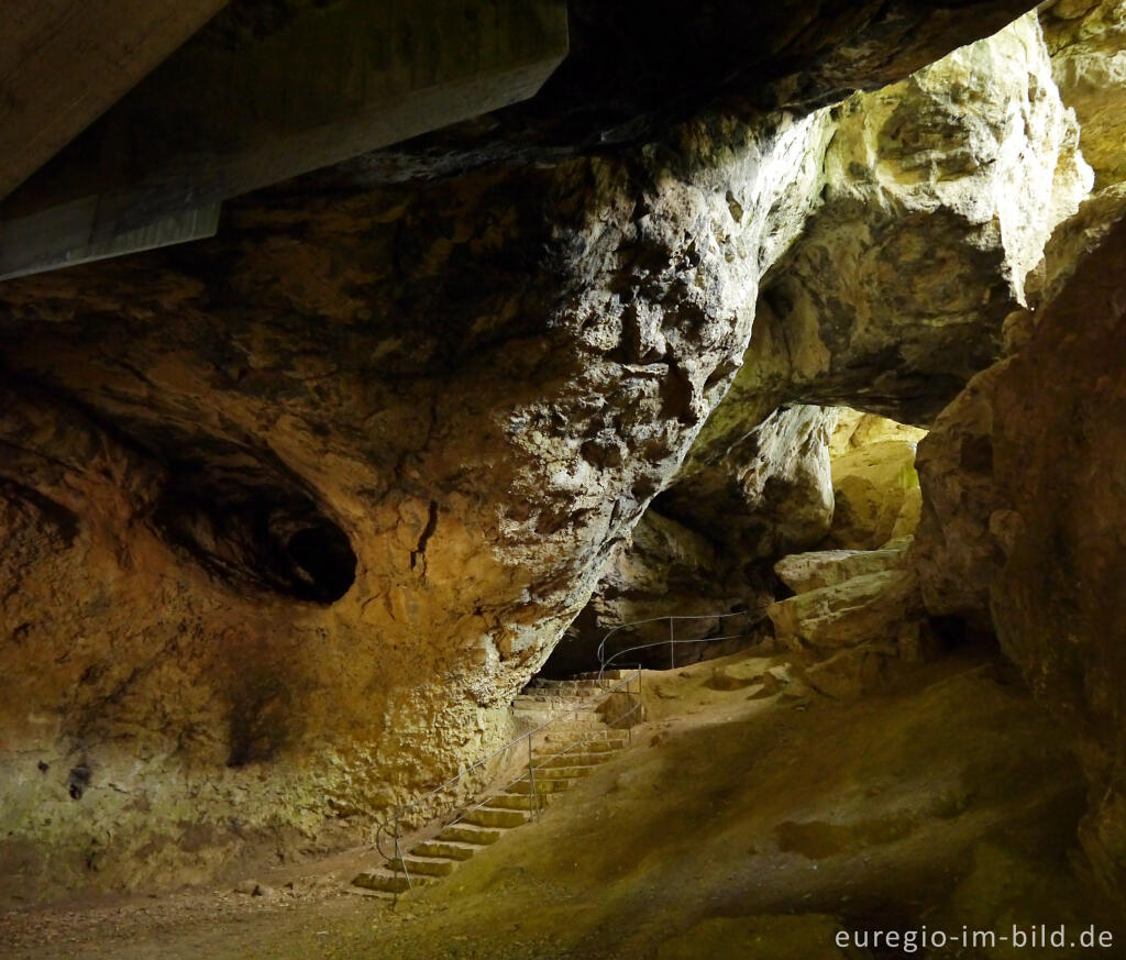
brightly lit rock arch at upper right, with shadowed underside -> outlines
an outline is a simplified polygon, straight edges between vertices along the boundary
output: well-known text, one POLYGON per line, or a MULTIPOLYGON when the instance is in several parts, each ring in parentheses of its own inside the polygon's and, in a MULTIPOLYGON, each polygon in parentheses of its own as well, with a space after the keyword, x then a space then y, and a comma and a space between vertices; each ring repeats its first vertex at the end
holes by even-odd
POLYGON ((926 425, 999 356, 1056 224, 1088 195, 1036 20, 833 111, 824 204, 768 277, 714 459, 779 403, 926 425))

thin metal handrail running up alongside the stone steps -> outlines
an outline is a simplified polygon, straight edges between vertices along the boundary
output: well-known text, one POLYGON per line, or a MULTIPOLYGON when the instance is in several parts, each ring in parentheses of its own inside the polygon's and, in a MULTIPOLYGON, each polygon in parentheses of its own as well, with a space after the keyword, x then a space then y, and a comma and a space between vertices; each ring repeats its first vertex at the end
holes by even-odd
MULTIPOLYGON (((598 682, 599 683, 602 682, 601 675, 599 675, 598 682)), ((484 768, 488 763, 490 763, 491 761, 495 760, 497 757, 502 756, 503 754, 508 753, 517 744, 519 744, 520 741, 524 741, 524 739, 526 739, 528 742, 528 761, 527 761, 527 766, 526 768, 521 764, 519 775, 512 778, 511 780, 506 781, 504 783, 502 783, 500 786, 498 786, 497 782, 493 781, 492 786, 490 786, 489 789, 483 790, 483 793, 485 795, 485 797, 484 797, 483 800, 481 800, 480 802, 474 804, 472 806, 468 806, 468 807, 462 807, 461 811, 457 814, 456 817, 454 817, 452 820, 447 820, 446 823, 443 824, 443 828, 449 827, 449 826, 454 826, 455 824, 461 823, 465 818, 465 816, 467 814, 471 814, 474 810, 477 810, 481 807, 485 806, 488 804, 488 801, 490 799, 492 799, 492 797, 494 797, 497 793, 507 790, 509 787, 511 787, 515 783, 518 783, 519 781, 524 780, 525 777, 527 777, 528 780, 529 780, 529 788, 528 789, 529 789, 530 792, 529 792, 528 796, 530 798, 530 802, 531 802, 531 807, 533 807, 531 813, 533 813, 534 816, 536 816, 538 818, 538 816, 539 816, 539 808, 542 806, 542 802, 540 802, 539 792, 536 789, 536 779, 535 779, 536 778, 536 773, 535 773, 535 771, 536 771, 536 763, 535 763, 535 755, 534 755, 534 751, 533 751, 533 737, 535 737, 539 733, 543 733, 544 730, 546 730, 548 727, 553 726, 554 724, 557 724, 560 720, 562 720, 562 719, 564 719, 566 717, 570 717, 573 714, 579 712, 580 710, 591 710, 595 707, 598 707, 599 705, 601 705, 606 700, 608 700, 614 693, 617 693, 617 692, 625 692, 629 697, 629 702, 631 702, 632 706, 624 714, 618 715, 617 717, 615 717, 611 720, 605 721, 607 726, 613 726, 614 724, 618 724, 618 723, 620 723, 620 721, 623 721, 623 720, 625 720, 627 718, 631 718, 631 717, 633 717, 634 714, 636 714, 636 712, 638 712, 641 710, 641 706, 642 706, 641 666, 637 666, 626 678, 619 679, 618 682, 615 683, 613 687, 609 687, 609 688, 605 689, 600 696, 592 697, 592 698, 590 698, 590 700, 588 702, 581 703, 578 707, 572 707, 569 710, 564 710, 564 711, 555 715, 554 717, 552 717, 546 723, 540 724, 538 727, 534 727, 530 730, 526 730, 525 733, 520 734, 520 736, 518 736, 518 737, 509 741, 507 744, 504 744, 504 746, 500 747, 500 750, 493 751, 488 756, 483 756, 481 760, 479 760, 476 763, 467 766, 465 770, 463 770, 456 777, 452 777, 445 783, 441 783, 440 786, 435 787, 432 790, 429 790, 426 793, 419 795, 418 797, 415 797, 410 802, 397 805, 394 808, 394 811, 392 814, 390 823, 387 820, 381 820, 381 823, 378 825, 378 828, 376 829, 376 834, 375 834, 375 847, 376 847, 376 850, 379 852, 379 854, 385 860, 388 860, 388 861, 391 861, 394 864, 394 872, 395 873, 397 873, 399 870, 403 871, 403 876, 406 878, 406 887, 408 887, 408 889, 413 889, 413 883, 411 881, 411 874, 410 874, 410 871, 406 869, 406 860, 403 856, 403 850, 402 850, 402 844, 401 844, 401 840, 402 840, 402 823, 403 823, 403 820, 405 818, 404 815, 408 811, 410 811, 410 810, 421 808, 423 806, 423 804, 432 802, 434 799, 438 797, 438 795, 440 795, 441 792, 448 790, 450 787, 453 787, 454 784, 456 784, 458 781, 465 779, 466 777, 468 777, 474 771, 476 771, 476 770, 479 770, 481 768, 484 768), (633 689, 631 689, 631 684, 633 683, 634 680, 637 681, 637 690, 636 691, 634 691, 633 689), (624 688, 624 690, 623 690, 623 688, 624 688), (636 696, 636 701, 634 701, 634 697, 635 696, 636 696), (384 846, 383 846, 384 841, 387 837, 390 837, 391 840, 394 841, 394 845, 392 847, 392 853, 387 853, 387 851, 384 850, 384 846)), ((626 729, 627 729, 627 736, 629 738, 629 742, 633 743, 633 723, 632 721, 627 725, 626 729)), ((548 756, 546 759, 540 757, 539 759, 539 763, 543 764, 545 761, 552 761, 552 760, 555 760, 555 759, 557 759, 560 756, 564 756, 568 753, 570 753, 572 750, 574 750, 577 746, 580 746, 582 744, 588 743, 592 737, 593 737, 593 734, 589 734, 588 736, 586 736, 586 737, 583 737, 581 739, 573 741, 572 743, 569 743, 568 746, 564 750, 562 750, 562 751, 560 751, 557 753, 554 753, 554 754, 552 754, 551 756, 548 756)), ((454 806, 461 806, 461 805, 455 804, 454 806)), ((437 817, 436 817, 436 819, 437 819, 437 817)), ((396 894, 396 898, 397 898, 397 894, 396 894)))

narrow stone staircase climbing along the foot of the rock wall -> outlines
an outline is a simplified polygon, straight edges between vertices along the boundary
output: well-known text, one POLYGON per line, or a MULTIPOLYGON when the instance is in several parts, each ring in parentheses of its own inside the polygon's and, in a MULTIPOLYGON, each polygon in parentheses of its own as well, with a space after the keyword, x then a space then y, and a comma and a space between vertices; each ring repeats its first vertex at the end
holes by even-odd
POLYGON ((432 837, 415 842, 402 859, 392 858, 385 865, 360 873, 352 883, 387 899, 412 886, 432 883, 557 801, 579 779, 628 743, 627 729, 607 726, 597 710, 583 708, 593 706, 595 698, 606 692, 605 681, 617 682, 629 673, 606 671, 602 684, 597 673, 570 680, 534 680, 512 703, 525 734, 536 730, 531 736, 531 770, 471 806, 432 837))

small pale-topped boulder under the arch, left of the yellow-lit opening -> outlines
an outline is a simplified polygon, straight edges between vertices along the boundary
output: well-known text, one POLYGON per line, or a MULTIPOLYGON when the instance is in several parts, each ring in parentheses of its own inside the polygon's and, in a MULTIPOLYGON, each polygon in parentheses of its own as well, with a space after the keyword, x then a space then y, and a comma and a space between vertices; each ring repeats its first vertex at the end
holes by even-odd
POLYGON ((726 456, 659 499, 662 510, 744 560, 810 547, 829 532, 833 410, 775 411, 726 456))

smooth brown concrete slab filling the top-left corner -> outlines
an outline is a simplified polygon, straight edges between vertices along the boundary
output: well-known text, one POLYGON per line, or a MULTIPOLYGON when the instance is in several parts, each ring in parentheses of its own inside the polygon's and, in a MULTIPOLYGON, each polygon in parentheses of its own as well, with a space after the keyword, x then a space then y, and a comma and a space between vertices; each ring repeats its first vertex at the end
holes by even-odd
POLYGON ((0 198, 8 196, 226 0, 5 0, 0 198))

